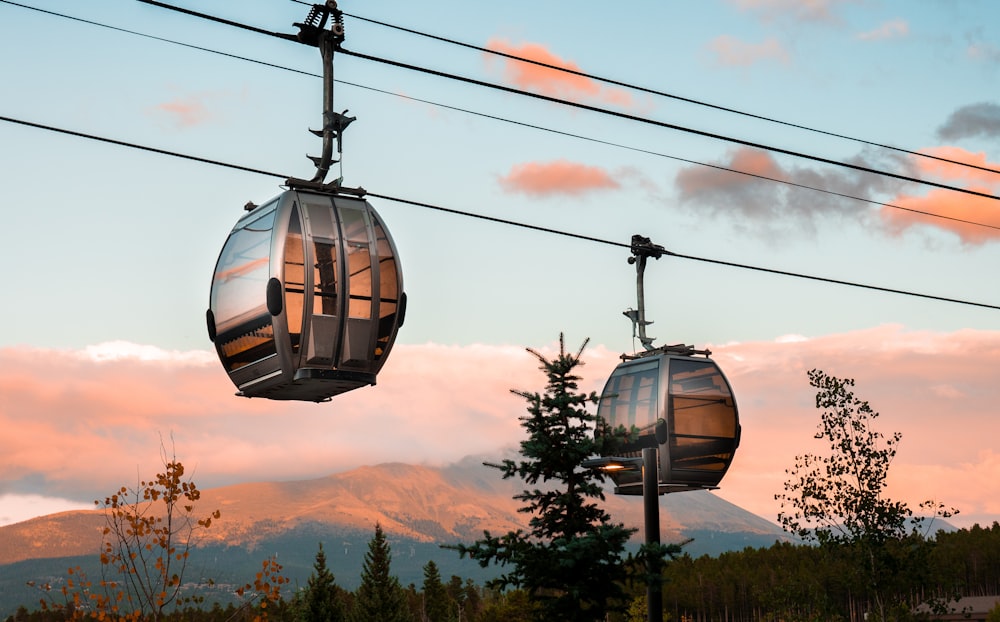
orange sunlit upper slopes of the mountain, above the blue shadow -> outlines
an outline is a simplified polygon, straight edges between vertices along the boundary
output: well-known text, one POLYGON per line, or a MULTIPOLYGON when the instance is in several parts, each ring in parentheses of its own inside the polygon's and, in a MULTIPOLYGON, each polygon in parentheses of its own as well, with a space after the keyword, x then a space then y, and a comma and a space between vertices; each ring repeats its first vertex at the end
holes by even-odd
MULTIPOLYGON (((315 479, 244 483, 201 491, 199 517, 218 509, 221 517, 201 530, 196 546, 254 548, 294 532, 327 526, 345 532, 374 530, 422 543, 472 541, 484 530, 527 528, 529 515, 513 498, 523 486, 503 480, 478 458, 445 467, 383 463, 315 479)), ((602 503, 614 522, 640 530, 640 497, 608 492, 602 503)), ((786 538, 777 525, 710 492, 660 498, 661 539, 682 541, 690 532, 752 534, 786 538)), ((0 565, 47 557, 96 553, 103 510, 75 510, 0 527, 0 565)), ((638 533, 637 533, 638 537, 638 533)))

